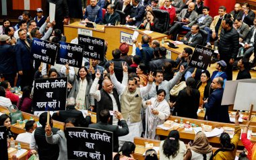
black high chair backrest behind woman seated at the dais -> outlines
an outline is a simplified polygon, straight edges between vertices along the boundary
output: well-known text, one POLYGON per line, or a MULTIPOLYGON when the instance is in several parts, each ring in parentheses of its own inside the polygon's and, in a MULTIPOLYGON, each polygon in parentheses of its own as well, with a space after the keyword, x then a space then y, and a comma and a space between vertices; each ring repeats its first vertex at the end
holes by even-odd
POLYGON ((152 11, 159 20, 160 28, 162 29, 160 32, 161 33, 166 32, 169 26, 169 21, 170 21, 168 11, 164 11, 162 9, 153 9, 152 11))

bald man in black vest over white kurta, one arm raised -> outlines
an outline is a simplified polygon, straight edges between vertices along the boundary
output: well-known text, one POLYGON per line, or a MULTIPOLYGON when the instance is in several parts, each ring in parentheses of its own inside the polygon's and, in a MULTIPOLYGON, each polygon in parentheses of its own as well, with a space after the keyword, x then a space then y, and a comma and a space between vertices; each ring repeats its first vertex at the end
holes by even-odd
MULTIPOLYGON (((96 104, 96 116, 97 122, 100 122, 100 112, 102 110, 110 110, 121 112, 121 105, 119 101, 119 93, 117 89, 113 87, 113 83, 110 79, 104 79, 102 82, 102 89, 98 90, 98 81, 100 80, 100 71, 97 70, 95 74, 94 83, 90 89, 90 95, 97 100, 96 104)), ((117 125, 119 120, 115 116, 111 116, 108 124, 117 125)))

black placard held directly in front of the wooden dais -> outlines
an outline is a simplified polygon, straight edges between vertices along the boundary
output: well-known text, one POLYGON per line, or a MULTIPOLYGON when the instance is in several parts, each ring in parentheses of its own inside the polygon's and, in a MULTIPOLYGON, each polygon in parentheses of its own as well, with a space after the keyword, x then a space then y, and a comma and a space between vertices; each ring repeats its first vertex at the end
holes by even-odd
POLYGON ((104 61, 104 40, 78 34, 78 44, 84 45, 84 57, 104 61))

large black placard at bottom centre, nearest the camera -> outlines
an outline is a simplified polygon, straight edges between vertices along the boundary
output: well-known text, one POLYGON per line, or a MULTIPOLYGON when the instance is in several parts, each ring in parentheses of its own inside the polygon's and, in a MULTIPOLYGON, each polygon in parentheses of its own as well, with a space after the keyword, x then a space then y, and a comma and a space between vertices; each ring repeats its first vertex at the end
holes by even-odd
POLYGON ((113 132, 67 127, 68 159, 113 159, 113 132))

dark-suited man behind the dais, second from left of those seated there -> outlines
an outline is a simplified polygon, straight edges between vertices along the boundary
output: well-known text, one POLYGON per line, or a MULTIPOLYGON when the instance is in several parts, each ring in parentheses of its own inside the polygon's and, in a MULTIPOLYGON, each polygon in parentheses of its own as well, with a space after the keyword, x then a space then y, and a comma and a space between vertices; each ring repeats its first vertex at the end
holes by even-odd
POLYGON ((119 13, 115 11, 115 5, 110 4, 106 7, 107 13, 104 15, 104 24, 108 26, 115 26, 117 22, 121 22, 119 13))

